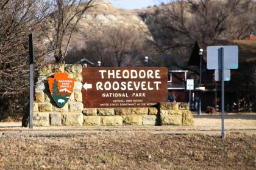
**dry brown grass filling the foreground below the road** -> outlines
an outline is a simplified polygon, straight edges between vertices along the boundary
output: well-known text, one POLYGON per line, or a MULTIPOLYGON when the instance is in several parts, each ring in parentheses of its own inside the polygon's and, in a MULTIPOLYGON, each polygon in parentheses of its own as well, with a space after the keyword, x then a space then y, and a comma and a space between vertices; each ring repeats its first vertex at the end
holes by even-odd
POLYGON ((256 135, 0 136, 0 169, 255 169, 256 135))

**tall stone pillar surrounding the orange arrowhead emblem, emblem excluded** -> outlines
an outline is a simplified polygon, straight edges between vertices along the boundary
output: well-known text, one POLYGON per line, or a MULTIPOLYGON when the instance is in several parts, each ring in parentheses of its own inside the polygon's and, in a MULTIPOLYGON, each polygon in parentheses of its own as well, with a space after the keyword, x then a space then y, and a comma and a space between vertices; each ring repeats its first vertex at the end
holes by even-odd
POLYGON ((39 71, 35 84, 34 126, 82 126, 84 105, 82 103, 82 66, 80 64, 49 64, 39 71), (74 90, 68 103, 58 107, 52 99, 48 78, 54 73, 68 73, 74 78, 74 90))

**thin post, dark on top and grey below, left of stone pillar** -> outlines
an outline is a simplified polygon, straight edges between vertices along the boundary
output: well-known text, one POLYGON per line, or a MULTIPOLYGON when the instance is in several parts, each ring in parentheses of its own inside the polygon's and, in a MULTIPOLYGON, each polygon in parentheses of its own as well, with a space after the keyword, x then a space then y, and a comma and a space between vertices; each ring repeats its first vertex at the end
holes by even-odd
POLYGON ((29 34, 29 129, 33 129, 33 107, 34 107, 34 53, 33 35, 29 34))

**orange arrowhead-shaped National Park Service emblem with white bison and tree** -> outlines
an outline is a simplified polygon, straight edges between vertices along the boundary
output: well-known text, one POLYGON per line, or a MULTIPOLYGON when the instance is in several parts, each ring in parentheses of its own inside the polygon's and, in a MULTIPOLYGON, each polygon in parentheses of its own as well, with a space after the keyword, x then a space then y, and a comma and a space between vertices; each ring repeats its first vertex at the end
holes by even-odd
POLYGON ((74 78, 68 78, 68 73, 55 73, 54 77, 48 78, 49 90, 55 103, 63 107, 74 88, 74 78))

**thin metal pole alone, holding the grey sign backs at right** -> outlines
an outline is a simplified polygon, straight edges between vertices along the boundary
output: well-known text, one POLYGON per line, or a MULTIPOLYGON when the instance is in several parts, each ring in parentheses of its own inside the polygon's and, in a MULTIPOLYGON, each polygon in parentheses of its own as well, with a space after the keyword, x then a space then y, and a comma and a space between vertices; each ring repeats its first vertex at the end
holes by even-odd
POLYGON ((225 138, 224 130, 224 48, 221 48, 221 138, 225 138))

